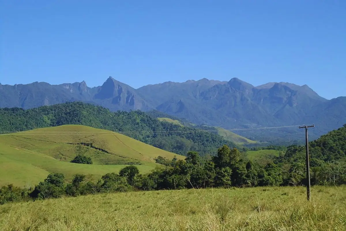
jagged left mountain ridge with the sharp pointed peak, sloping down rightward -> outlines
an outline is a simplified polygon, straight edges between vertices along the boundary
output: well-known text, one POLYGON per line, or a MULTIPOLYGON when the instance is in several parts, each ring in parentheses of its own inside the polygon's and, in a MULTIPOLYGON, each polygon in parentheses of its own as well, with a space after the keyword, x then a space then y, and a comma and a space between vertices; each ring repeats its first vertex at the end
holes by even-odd
POLYGON ((111 77, 102 86, 93 88, 89 88, 85 81, 61 85, 50 85, 46 82, 0 85, 0 107, 29 109, 72 101, 93 103, 112 111, 152 108, 134 88, 111 77))

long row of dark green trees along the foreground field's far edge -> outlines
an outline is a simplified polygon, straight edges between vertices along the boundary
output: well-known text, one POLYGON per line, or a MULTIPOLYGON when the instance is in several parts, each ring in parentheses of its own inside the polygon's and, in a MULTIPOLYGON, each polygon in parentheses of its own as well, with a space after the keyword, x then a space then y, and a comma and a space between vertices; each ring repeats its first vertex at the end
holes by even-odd
MULTIPOLYGON (((136 166, 127 166, 119 173, 103 175, 97 182, 87 181, 76 174, 66 182, 61 173, 49 174, 35 188, 24 189, 13 185, 0 189, 0 204, 36 199, 59 198, 97 193, 128 192, 134 190, 163 190, 210 187, 298 186, 306 182, 304 165, 293 162, 289 166, 290 150, 266 166, 241 158, 236 148, 221 146, 211 160, 203 161, 198 152, 189 151, 185 160, 156 158, 162 164, 148 174, 140 174, 136 166), (276 162, 276 163, 275 163, 276 162)), ((312 185, 346 184, 345 162, 311 159, 312 185)))

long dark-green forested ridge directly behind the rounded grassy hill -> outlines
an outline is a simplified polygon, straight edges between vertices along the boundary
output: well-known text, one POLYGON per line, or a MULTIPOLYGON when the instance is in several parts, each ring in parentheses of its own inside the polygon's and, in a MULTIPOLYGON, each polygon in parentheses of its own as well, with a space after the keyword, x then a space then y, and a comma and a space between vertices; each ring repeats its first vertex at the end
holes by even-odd
POLYGON ((136 140, 177 154, 198 151, 201 155, 216 153, 227 144, 236 145, 220 135, 160 122, 139 110, 110 112, 108 109, 80 102, 42 106, 24 110, 0 109, 1 131, 26 131, 41 127, 80 124, 120 132, 136 140))

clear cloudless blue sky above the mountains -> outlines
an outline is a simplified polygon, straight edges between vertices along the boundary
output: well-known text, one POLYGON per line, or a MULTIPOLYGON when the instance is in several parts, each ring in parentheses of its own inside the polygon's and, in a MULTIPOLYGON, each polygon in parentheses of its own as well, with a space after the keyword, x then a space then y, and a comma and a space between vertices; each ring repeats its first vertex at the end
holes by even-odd
POLYGON ((344 0, 0 0, 0 82, 309 85, 346 96, 344 0))

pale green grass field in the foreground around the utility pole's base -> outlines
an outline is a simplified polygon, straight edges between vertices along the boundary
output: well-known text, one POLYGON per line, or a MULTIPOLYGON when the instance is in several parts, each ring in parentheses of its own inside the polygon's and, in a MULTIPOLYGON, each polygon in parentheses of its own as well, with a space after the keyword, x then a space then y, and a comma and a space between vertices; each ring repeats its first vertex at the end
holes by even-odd
POLYGON ((257 187, 130 192, 0 206, 0 230, 346 229, 346 189, 257 187))

